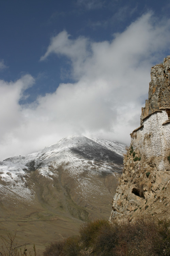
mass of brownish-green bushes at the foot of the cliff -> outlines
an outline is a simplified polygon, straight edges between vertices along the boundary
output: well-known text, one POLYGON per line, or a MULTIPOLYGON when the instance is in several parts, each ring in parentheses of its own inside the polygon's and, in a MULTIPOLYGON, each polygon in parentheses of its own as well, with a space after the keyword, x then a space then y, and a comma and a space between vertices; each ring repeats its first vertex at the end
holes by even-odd
POLYGON ((170 220, 140 218, 135 222, 97 220, 84 224, 80 235, 51 243, 44 256, 168 256, 170 220))

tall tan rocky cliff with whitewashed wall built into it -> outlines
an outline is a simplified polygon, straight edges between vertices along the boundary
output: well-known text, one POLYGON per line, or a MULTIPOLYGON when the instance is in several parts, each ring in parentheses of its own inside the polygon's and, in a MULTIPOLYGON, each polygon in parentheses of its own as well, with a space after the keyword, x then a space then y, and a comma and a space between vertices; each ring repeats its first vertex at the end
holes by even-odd
POLYGON ((170 216, 170 56, 151 69, 141 126, 131 133, 110 220, 170 216))

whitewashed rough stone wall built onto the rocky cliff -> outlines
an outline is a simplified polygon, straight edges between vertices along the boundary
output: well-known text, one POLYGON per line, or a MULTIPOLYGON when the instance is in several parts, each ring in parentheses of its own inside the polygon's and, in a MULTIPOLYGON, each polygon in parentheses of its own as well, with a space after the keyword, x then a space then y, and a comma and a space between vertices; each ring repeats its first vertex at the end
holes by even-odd
POLYGON ((131 134, 131 144, 134 151, 150 157, 165 157, 170 149, 170 123, 162 125, 168 120, 165 110, 154 112, 143 121, 143 126, 131 134))

